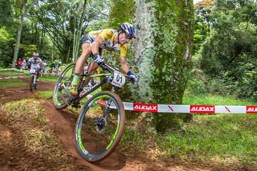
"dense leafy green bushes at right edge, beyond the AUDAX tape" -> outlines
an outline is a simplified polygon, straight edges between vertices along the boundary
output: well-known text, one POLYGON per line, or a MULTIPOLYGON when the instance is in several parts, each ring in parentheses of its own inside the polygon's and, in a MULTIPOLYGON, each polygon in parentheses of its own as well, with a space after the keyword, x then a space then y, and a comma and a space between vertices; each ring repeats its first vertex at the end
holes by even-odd
POLYGON ((201 68, 209 83, 237 97, 253 99, 257 90, 254 77, 257 35, 253 15, 256 8, 252 1, 217 1, 213 14, 216 23, 201 51, 201 68))

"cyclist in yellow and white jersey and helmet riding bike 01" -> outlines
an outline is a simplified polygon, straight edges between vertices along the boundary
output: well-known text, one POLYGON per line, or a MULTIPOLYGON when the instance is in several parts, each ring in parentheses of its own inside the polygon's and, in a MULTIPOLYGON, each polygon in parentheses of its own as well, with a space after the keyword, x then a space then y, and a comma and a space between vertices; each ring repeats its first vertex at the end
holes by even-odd
MULTIPOLYGON (((122 70, 133 79, 133 82, 137 82, 137 77, 130 71, 126 64, 126 43, 135 37, 136 29, 129 23, 123 23, 119 26, 118 30, 114 29, 102 29, 96 31, 90 31, 82 37, 82 53, 80 58, 76 62, 75 76, 69 87, 69 92, 73 96, 78 95, 77 85, 79 81, 79 74, 82 73, 85 62, 93 54, 95 63, 89 66, 88 73, 95 73, 98 66, 103 64, 103 58, 101 56, 102 49, 108 51, 119 50, 120 51, 120 63, 122 70)), ((90 78, 87 78, 85 83, 89 82, 90 78)))

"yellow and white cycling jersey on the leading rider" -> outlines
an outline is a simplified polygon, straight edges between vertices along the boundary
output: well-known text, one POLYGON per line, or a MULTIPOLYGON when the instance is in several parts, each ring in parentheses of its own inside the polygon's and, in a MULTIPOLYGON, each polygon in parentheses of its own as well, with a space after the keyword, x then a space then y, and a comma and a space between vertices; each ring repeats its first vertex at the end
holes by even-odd
POLYGON ((116 44, 113 46, 113 40, 116 34, 118 34, 118 31, 114 29, 102 29, 88 32, 88 36, 90 37, 92 42, 96 39, 98 35, 102 37, 103 43, 99 46, 100 48, 106 49, 108 51, 119 50, 120 55, 126 56, 127 47, 125 44, 122 46, 120 44, 116 44))

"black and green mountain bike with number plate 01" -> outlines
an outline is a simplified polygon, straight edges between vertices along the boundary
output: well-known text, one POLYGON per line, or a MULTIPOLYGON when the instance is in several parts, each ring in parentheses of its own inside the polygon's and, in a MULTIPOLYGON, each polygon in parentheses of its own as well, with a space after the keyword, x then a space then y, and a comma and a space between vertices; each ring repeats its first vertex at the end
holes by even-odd
MULTIPOLYGON (((112 154, 123 134, 125 110, 120 97, 114 92, 121 88, 130 77, 107 64, 102 65, 106 73, 80 74, 78 96, 74 97, 68 87, 74 77, 75 64, 70 64, 60 75, 54 88, 53 103, 57 109, 78 104, 89 93, 105 83, 112 85, 111 91, 101 91, 91 97, 84 105, 78 117, 75 129, 76 149, 80 156, 89 162, 98 162, 112 154), (100 77, 93 86, 84 86, 86 77, 100 77)), ((88 67, 89 68, 89 67, 88 67)))

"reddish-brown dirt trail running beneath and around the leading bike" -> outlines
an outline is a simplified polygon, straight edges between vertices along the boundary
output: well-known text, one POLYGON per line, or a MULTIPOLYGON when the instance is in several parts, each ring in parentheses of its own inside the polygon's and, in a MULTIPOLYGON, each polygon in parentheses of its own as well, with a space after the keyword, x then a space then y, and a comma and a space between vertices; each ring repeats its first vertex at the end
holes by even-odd
MULTIPOLYGON (((40 82, 37 91, 53 89, 53 83, 40 82)), ((35 153, 25 147, 25 140, 21 128, 8 122, 8 118, 0 113, 0 170, 254 170, 240 166, 201 166, 188 163, 178 163, 169 159, 169 162, 156 161, 144 158, 137 154, 131 155, 126 151, 115 150, 107 159, 92 164, 83 160, 75 148, 75 124, 77 118, 69 110, 57 110, 51 101, 39 99, 30 92, 29 87, 2 89, 0 104, 7 101, 18 101, 25 98, 37 98, 45 109, 45 116, 49 120, 49 126, 57 135, 56 139, 62 146, 68 158, 74 163, 70 167, 61 167, 60 160, 50 160, 48 156, 35 153)), ((65 159, 63 159, 65 160, 65 159)))

